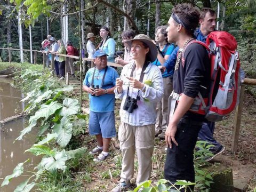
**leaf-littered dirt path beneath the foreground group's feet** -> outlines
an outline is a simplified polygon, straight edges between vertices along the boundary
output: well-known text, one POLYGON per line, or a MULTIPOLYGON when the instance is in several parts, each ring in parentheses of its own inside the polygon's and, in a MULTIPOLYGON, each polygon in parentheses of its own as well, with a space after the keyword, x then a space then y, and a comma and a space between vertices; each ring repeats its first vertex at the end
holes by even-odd
MULTIPOLYGON (((244 186, 244 183, 249 183, 249 188, 244 191, 253 191, 256 186, 256 99, 251 95, 245 94, 244 109, 242 115, 241 132, 239 136, 238 151, 231 154, 231 142, 233 134, 234 113, 229 119, 218 122, 215 126, 214 137, 226 147, 224 153, 214 158, 217 162, 229 162, 233 166, 233 178, 236 187, 244 186), (239 186, 238 184, 241 184, 239 186)), ((116 111, 116 114, 118 111, 116 111)), ((119 125, 119 120, 116 121, 116 127, 119 125)), ((86 137, 85 145, 89 149, 95 146, 93 137, 86 137)), ((155 149, 153 155, 153 171, 151 180, 156 181, 163 178, 163 166, 165 162, 165 142, 155 139, 155 149)), ((118 140, 113 139, 110 147, 111 156, 106 162, 95 164, 92 162, 93 171, 91 172, 90 181, 84 182, 86 191, 110 191, 119 180, 121 171, 121 152, 118 150, 118 140)), ((135 169, 137 167, 135 162, 135 169)), ((136 172, 134 178, 136 177, 136 172)), ((135 179, 132 180, 135 182, 135 179)))

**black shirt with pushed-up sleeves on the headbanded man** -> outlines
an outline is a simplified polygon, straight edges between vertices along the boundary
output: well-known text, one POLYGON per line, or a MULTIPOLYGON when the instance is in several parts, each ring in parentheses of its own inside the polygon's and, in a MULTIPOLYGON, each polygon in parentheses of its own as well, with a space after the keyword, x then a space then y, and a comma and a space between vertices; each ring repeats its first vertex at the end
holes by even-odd
MULTIPOLYGON (((200 92, 203 98, 209 95, 211 83, 211 65, 209 54, 203 45, 191 43, 184 52, 184 67, 180 61, 179 68, 173 74, 173 89, 176 93, 183 93, 195 98, 200 92)), ((183 116, 186 119, 204 121, 204 115, 190 111, 183 116)))

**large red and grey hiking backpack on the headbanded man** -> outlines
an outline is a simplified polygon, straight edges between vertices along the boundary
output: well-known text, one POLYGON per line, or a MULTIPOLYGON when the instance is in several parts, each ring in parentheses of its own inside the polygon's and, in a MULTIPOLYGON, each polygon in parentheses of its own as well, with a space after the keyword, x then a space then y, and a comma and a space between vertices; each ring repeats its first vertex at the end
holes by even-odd
MULTIPOLYGON (((205 115, 209 121, 221 121, 235 109, 239 102, 241 79, 236 39, 226 31, 213 31, 207 36, 206 44, 194 40, 187 46, 191 43, 199 43, 209 52, 211 85, 209 97, 202 98, 201 93, 198 93, 192 105, 193 108, 189 110, 205 115)), ((185 50, 181 58, 183 66, 184 52, 185 50)))

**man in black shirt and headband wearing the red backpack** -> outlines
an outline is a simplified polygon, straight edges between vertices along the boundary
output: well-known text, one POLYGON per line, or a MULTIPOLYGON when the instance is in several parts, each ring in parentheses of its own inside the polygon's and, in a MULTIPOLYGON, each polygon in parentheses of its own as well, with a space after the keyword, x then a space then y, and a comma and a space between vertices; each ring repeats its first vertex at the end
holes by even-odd
POLYGON ((210 59, 204 46, 190 44, 199 21, 198 10, 190 4, 178 4, 172 11, 167 37, 170 43, 177 44, 181 49, 174 67, 174 93, 165 132, 168 149, 164 177, 171 183, 177 180, 194 182, 193 153, 204 115, 189 109, 199 92, 203 98, 209 94, 210 59), (178 105, 175 105, 175 100, 178 100, 178 105))

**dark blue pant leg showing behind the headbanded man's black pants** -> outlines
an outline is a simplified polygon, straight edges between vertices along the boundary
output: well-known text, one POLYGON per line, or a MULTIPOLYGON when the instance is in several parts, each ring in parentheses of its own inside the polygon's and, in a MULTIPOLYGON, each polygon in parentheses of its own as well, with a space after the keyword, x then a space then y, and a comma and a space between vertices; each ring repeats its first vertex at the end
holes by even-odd
POLYGON ((198 133, 198 140, 203 140, 214 145, 214 148, 219 148, 221 144, 213 138, 215 122, 203 123, 201 130, 198 133))

